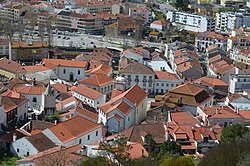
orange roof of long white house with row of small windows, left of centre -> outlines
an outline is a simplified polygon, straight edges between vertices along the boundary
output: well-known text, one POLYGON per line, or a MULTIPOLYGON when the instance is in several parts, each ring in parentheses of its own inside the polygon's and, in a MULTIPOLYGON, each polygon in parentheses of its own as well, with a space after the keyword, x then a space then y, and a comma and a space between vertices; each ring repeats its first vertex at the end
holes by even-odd
POLYGON ((85 97, 88 97, 90 99, 97 99, 97 98, 103 96, 103 94, 101 92, 98 92, 98 91, 91 89, 91 88, 89 88, 85 85, 82 85, 82 84, 78 85, 77 87, 73 87, 72 91, 75 91, 75 92, 77 92, 85 97))

